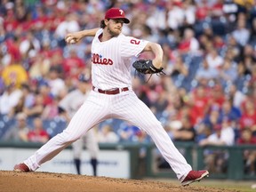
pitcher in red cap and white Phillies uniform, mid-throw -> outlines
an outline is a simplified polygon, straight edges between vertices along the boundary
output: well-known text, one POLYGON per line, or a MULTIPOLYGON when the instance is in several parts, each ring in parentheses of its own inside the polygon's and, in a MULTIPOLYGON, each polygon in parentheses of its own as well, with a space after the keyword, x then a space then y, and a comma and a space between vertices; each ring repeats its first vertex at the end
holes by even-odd
POLYGON ((148 69, 140 70, 153 74, 155 71, 161 71, 163 50, 160 44, 124 36, 122 28, 129 22, 122 9, 111 8, 105 13, 104 20, 101 20, 100 28, 83 30, 66 36, 68 43, 76 43, 84 36, 94 36, 92 91, 71 119, 67 129, 49 140, 23 163, 16 164, 14 171, 36 171, 41 164, 78 140, 95 124, 108 118, 119 118, 134 124, 150 135, 182 186, 202 180, 209 175, 206 170, 192 170, 156 116, 132 91, 132 57, 139 56, 141 52, 153 52, 154 60, 147 61, 146 65, 143 65, 148 69))

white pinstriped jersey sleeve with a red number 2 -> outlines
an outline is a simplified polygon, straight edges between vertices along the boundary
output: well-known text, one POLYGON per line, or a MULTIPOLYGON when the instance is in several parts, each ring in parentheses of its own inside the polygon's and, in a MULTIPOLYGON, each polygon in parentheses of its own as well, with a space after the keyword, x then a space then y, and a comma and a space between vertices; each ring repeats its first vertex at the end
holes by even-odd
POLYGON ((132 56, 138 57, 140 52, 145 48, 148 44, 148 41, 140 40, 134 38, 132 36, 120 36, 122 38, 121 41, 121 56, 128 58, 132 56))

